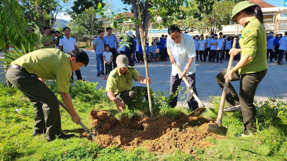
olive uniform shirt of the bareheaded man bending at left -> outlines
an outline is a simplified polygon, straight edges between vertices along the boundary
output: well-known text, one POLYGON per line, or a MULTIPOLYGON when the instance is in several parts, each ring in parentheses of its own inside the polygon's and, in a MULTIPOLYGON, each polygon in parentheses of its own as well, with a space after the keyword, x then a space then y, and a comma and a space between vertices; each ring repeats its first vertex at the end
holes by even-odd
POLYGON ((69 79, 72 76, 70 56, 59 49, 36 50, 11 64, 22 66, 28 73, 34 73, 39 78, 57 80, 58 91, 69 93, 69 79))

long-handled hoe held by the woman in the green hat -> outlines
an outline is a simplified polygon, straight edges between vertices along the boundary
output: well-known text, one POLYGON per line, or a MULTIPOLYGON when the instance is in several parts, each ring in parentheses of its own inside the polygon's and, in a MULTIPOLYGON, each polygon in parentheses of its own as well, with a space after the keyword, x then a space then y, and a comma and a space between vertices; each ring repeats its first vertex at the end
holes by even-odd
MULTIPOLYGON (((236 40, 237 40, 236 38, 233 39, 232 48, 235 48, 236 40)), ((234 56, 234 54, 231 53, 226 73, 228 73, 231 70, 233 56, 234 56)), ((216 124, 209 123, 208 128, 207 128, 207 131, 212 132, 212 133, 216 133, 216 134, 222 135, 222 136, 226 136, 226 132, 227 132, 227 127, 221 126, 221 124, 222 124, 222 111, 223 111, 223 107, 224 107, 224 103, 225 103, 226 92, 227 92, 227 87, 228 87, 229 82, 230 82, 229 78, 228 77, 225 78, 225 83, 224 83, 224 87, 222 90, 222 95, 221 95, 218 115, 217 115, 217 119, 216 119, 216 124)))

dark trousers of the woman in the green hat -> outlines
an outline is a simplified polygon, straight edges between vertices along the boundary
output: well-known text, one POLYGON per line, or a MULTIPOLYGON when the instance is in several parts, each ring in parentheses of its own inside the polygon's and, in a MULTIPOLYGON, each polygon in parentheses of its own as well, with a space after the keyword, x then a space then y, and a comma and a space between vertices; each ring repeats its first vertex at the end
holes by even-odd
MULTIPOLYGON (((226 72, 227 69, 218 73, 216 76, 216 81, 222 90, 224 87, 224 75, 226 74, 226 72)), ((228 106, 241 105, 243 115, 243 134, 245 135, 248 134, 248 131, 251 131, 251 133, 254 133, 256 131, 256 109, 255 105, 253 104, 254 96, 259 83, 264 78, 266 73, 267 69, 249 74, 239 74, 238 70, 234 72, 231 81, 240 81, 239 96, 237 95, 232 84, 228 84, 226 102, 228 106)))

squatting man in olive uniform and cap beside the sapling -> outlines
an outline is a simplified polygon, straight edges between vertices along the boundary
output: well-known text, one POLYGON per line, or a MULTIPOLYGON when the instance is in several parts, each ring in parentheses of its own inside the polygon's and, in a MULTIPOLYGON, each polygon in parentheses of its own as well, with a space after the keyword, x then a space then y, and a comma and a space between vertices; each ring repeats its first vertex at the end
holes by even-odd
POLYGON ((151 84, 150 78, 141 76, 133 67, 129 67, 129 60, 125 55, 117 56, 117 68, 112 70, 108 76, 106 92, 108 98, 117 105, 119 111, 123 111, 124 105, 131 103, 141 89, 146 93, 147 87, 133 87, 133 80, 140 81, 142 84, 151 84))

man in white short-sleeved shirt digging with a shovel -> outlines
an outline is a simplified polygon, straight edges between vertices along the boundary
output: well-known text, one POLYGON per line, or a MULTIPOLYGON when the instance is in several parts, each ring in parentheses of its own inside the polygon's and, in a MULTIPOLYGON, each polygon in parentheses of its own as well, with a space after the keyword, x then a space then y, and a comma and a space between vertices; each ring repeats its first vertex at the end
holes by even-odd
MULTIPOLYGON (((195 46, 194 41, 188 34, 182 33, 177 25, 171 25, 168 28, 168 37, 166 41, 167 52, 172 63, 172 70, 170 74, 170 94, 174 94, 180 86, 181 78, 185 77, 191 89, 196 92, 195 88, 195 46), (175 62, 179 65, 182 75, 179 74, 175 67, 175 62)), ((188 88, 188 87, 187 87, 188 88)), ((192 96, 191 92, 187 92, 188 106, 190 109, 197 109, 198 103, 192 96)), ((170 106, 177 105, 177 95, 171 99, 170 106)))

